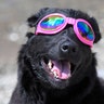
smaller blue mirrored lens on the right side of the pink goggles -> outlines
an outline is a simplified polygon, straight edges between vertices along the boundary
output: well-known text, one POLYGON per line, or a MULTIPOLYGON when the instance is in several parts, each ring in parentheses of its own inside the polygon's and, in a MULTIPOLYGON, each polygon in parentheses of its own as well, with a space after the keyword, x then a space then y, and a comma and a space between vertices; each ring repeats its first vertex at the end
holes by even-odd
POLYGON ((77 27, 78 27, 80 35, 84 39, 93 41, 94 35, 93 35, 91 27, 88 24, 86 24, 83 22, 78 22, 77 27))

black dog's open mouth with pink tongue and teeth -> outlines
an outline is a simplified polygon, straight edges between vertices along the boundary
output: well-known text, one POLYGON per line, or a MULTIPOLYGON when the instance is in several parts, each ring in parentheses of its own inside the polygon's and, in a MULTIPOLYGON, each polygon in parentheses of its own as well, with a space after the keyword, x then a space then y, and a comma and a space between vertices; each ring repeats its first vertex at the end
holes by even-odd
POLYGON ((72 64, 68 61, 52 61, 42 58, 42 67, 55 79, 68 79, 72 77, 72 64))

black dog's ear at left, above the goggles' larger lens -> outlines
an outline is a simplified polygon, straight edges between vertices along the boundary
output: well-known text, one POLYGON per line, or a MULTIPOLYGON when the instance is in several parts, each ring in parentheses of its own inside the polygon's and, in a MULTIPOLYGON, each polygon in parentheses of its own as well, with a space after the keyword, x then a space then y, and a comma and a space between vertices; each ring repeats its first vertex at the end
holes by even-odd
POLYGON ((30 27, 35 27, 36 24, 38 23, 39 18, 41 17, 41 15, 44 14, 44 12, 48 10, 49 8, 43 8, 41 9, 37 14, 30 16, 29 18, 27 18, 27 23, 28 26, 30 27))

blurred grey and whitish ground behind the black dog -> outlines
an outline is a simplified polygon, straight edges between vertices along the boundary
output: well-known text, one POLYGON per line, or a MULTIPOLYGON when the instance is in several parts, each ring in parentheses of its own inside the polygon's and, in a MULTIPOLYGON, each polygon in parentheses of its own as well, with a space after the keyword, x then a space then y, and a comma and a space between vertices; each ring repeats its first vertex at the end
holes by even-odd
POLYGON ((0 104, 8 104, 16 83, 16 58, 28 30, 26 20, 41 8, 68 8, 98 20, 103 39, 92 48, 98 75, 104 77, 104 0, 0 0, 0 104))

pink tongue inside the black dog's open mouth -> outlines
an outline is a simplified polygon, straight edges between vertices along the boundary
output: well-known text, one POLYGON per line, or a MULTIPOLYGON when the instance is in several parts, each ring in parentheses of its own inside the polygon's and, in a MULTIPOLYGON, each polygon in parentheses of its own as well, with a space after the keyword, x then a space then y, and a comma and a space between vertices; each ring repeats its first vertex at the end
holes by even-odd
POLYGON ((52 72, 55 72, 58 79, 67 79, 70 77, 69 62, 53 62, 54 66, 52 72))

